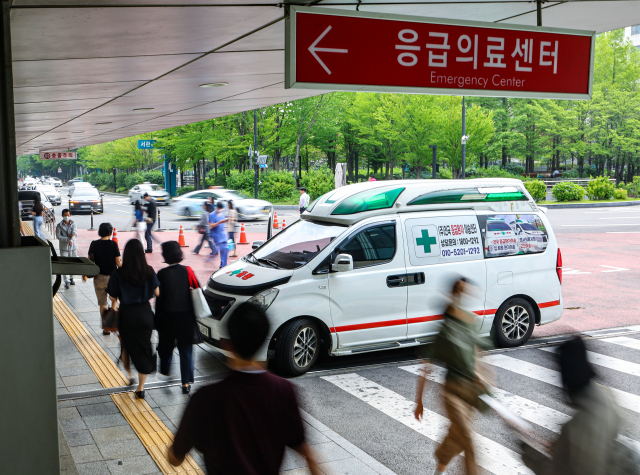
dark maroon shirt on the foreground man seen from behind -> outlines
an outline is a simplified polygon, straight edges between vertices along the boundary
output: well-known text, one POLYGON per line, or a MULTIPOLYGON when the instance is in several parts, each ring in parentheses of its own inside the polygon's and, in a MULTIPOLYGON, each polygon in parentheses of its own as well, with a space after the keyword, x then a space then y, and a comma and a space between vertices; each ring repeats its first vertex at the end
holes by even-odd
POLYGON ((291 383, 267 372, 232 372, 199 389, 185 409, 173 450, 202 452, 209 475, 277 475, 285 446, 304 442, 291 383))

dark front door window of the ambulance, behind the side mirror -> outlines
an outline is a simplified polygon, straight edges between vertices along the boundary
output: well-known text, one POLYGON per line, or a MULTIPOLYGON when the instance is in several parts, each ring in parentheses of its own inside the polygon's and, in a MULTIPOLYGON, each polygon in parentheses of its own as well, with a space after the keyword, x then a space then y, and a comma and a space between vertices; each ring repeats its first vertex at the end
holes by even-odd
POLYGON ((340 246, 340 254, 353 257, 353 268, 384 264, 396 253, 396 226, 386 224, 367 228, 340 246))

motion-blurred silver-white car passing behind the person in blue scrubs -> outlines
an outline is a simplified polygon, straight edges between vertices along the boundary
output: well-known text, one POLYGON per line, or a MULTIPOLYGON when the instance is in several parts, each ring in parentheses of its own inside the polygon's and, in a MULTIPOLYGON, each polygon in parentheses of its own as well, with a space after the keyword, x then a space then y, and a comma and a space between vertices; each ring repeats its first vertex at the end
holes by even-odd
POLYGON ((202 203, 209 197, 218 202, 227 204, 233 200, 233 204, 238 211, 238 218, 241 220, 267 219, 269 211, 273 205, 268 201, 255 200, 234 190, 214 188, 209 190, 191 191, 173 199, 172 206, 176 210, 175 214, 187 218, 199 216, 202 213, 202 203))

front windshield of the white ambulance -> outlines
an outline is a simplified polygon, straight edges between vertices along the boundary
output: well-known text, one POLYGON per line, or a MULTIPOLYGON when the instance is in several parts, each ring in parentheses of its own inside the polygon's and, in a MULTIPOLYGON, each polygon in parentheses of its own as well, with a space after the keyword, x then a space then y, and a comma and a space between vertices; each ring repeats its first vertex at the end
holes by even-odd
POLYGON ((249 254, 247 260, 265 267, 297 269, 316 257, 346 228, 333 223, 299 220, 249 254))

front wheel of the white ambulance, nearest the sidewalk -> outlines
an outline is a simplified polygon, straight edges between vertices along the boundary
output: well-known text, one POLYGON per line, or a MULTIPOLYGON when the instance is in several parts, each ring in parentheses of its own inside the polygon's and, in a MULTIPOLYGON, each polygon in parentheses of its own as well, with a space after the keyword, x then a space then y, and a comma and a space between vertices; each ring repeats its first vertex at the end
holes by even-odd
POLYGON ((276 365, 282 374, 300 376, 318 360, 320 331, 314 321, 301 318, 289 322, 278 340, 276 365))

